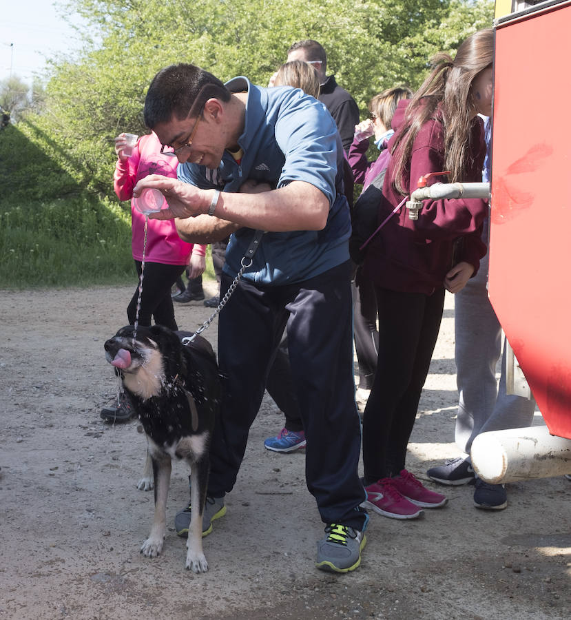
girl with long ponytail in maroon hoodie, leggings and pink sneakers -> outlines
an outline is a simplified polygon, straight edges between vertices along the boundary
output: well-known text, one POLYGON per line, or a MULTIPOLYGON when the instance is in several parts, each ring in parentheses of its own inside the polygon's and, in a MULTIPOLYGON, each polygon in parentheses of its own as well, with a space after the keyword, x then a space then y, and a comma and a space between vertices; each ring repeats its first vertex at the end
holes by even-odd
POLYGON ((433 70, 393 117, 395 135, 379 206, 386 220, 364 259, 379 308, 379 357, 363 419, 366 507, 394 519, 446 504, 406 470, 405 458, 437 340, 444 291, 457 293, 486 254, 486 200, 424 200, 417 220, 398 207, 428 173, 428 185, 481 181, 486 154, 479 113, 488 109, 494 34, 472 34, 455 59, 439 54, 433 70))

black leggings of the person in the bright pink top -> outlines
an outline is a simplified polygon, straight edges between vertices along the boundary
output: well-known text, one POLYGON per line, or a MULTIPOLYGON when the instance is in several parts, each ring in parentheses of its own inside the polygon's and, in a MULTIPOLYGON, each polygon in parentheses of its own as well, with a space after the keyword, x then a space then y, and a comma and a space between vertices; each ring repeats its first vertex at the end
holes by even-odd
MULTIPOLYGON (((135 267, 141 278, 141 261, 135 261, 135 267)), ((145 262, 145 276, 143 277, 143 295, 141 296, 141 310, 138 323, 142 327, 149 327, 151 316, 155 323, 176 330, 178 326, 174 320, 171 287, 176 278, 185 271, 185 265, 164 265, 162 262, 145 262)), ((138 300, 138 282, 135 294, 127 306, 129 325, 135 324, 138 300)))

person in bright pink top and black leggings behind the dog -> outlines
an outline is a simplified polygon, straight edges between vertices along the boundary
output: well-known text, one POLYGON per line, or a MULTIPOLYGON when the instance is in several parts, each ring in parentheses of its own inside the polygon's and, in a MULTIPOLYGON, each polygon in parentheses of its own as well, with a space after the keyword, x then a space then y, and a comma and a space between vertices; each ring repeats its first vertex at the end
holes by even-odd
MULTIPOLYGON (((154 133, 139 138, 130 155, 125 154, 126 146, 125 134, 115 138, 117 161, 113 187, 119 200, 131 200, 132 251, 136 271, 141 278, 145 216, 138 211, 132 199, 133 188, 138 180, 148 174, 162 174, 176 178, 178 159, 169 154, 167 149, 163 153, 160 152, 162 145, 154 133)), ((138 313, 139 325, 148 327, 154 318, 156 324, 173 330, 178 329, 171 298, 172 285, 185 271, 187 265, 189 278, 200 276, 205 269, 205 254, 205 245, 193 245, 178 236, 174 220, 148 220, 143 292, 138 313)), ((130 325, 136 320, 138 284, 139 282, 127 306, 127 319, 130 325)), ((125 399, 121 398, 114 406, 105 407, 101 411, 101 417, 113 422, 129 420, 132 417, 131 408, 125 399)))

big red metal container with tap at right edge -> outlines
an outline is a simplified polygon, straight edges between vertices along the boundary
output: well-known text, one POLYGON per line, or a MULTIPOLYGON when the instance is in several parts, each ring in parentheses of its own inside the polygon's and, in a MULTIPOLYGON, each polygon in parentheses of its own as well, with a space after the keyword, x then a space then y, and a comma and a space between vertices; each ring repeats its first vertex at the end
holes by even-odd
POLYGON ((489 295, 550 433, 571 439, 571 2, 495 37, 489 295))

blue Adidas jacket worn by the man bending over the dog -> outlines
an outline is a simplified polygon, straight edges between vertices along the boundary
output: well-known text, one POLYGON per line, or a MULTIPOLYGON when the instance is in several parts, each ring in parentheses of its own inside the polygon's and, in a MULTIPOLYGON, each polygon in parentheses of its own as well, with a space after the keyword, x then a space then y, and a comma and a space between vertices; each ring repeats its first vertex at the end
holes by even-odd
MULTIPOLYGON (((331 205, 323 230, 264 234, 243 277, 260 285, 291 284, 349 260, 351 218, 342 194, 343 149, 331 114, 299 89, 263 88, 242 76, 226 86, 231 92, 248 93, 244 132, 238 140, 244 152, 240 165, 225 152, 218 169, 183 163, 178 178, 224 192, 238 192, 249 178, 272 187, 301 180, 318 187, 331 205)), ((231 236, 224 267, 229 276, 236 276, 252 237, 248 228, 231 236)))

